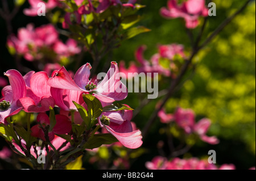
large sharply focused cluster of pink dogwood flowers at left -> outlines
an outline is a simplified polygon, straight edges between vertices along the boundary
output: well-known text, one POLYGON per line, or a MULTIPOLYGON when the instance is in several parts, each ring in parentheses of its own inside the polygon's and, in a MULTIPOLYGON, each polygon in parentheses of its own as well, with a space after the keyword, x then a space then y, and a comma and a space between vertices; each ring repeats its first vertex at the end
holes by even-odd
MULTIPOLYGON (((90 94, 97 98, 102 107, 109 106, 116 100, 123 100, 127 96, 127 88, 120 81, 119 70, 116 62, 112 62, 108 73, 101 82, 92 82, 90 77, 90 64, 85 64, 77 70, 74 78, 64 66, 53 71, 51 78, 45 71, 35 73, 30 71, 22 77, 17 70, 8 70, 5 75, 9 78, 10 85, 2 89, 3 98, 0 99, 0 124, 8 124, 7 118, 15 115, 20 110, 38 113, 37 123, 31 128, 31 135, 45 140, 43 128, 50 125, 49 116, 46 114, 49 107, 59 107, 56 115, 56 124, 48 132, 49 141, 56 138, 56 134, 69 134, 72 129, 72 113, 75 119, 73 124, 82 124, 82 117, 75 103, 84 109, 88 106, 82 95, 90 94), (125 87, 126 91, 118 91, 125 87)), ((129 107, 129 106, 127 106, 129 107)), ((141 131, 133 130, 131 118, 132 110, 105 111, 97 116, 98 125, 113 134, 122 145, 135 149, 142 145, 141 131)), ((59 144, 57 142, 57 144, 59 144)))

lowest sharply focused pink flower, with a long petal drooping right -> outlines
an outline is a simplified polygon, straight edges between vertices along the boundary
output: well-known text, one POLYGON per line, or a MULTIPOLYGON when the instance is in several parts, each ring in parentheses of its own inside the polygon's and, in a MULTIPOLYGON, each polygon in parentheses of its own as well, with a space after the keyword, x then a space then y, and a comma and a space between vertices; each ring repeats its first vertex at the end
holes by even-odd
POLYGON ((123 146, 136 149, 142 145, 142 136, 141 131, 133 130, 130 122, 132 117, 131 110, 103 112, 98 118, 98 123, 113 134, 123 146))

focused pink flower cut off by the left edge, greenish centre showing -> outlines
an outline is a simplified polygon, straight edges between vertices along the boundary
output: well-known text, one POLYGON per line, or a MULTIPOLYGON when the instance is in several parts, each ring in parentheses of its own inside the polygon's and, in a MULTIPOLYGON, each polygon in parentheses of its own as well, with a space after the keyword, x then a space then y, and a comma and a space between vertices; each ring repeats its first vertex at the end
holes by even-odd
POLYGON ((10 86, 2 89, 3 98, 0 99, 0 123, 5 123, 7 117, 13 116, 22 110, 17 105, 20 98, 26 96, 26 83, 17 70, 8 70, 5 75, 9 78, 10 86))

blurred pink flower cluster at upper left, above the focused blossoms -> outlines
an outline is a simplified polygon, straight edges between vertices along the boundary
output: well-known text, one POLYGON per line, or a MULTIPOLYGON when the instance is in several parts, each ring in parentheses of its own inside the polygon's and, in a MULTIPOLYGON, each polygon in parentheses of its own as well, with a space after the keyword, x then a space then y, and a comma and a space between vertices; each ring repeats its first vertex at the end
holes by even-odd
POLYGON ((27 61, 52 62, 81 52, 81 48, 77 47, 73 39, 68 39, 64 44, 52 24, 37 28, 28 24, 26 28, 18 30, 17 36, 11 35, 7 45, 9 49, 14 49, 16 54, 24 56, 27 61))

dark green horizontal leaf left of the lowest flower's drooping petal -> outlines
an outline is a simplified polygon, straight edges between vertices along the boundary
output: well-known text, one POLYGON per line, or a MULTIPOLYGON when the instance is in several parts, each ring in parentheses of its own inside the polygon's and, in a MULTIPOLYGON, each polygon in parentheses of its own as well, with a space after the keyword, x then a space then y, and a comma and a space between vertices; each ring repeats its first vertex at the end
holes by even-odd
POLYGON ((114 142, 117 142, 117 138, 115 138, 112 134, 94 134, 93 137, 89 138, 89 140, 85 143, 85 149, 94 149, 98 148, 101 145, 110 145, 114 142))

